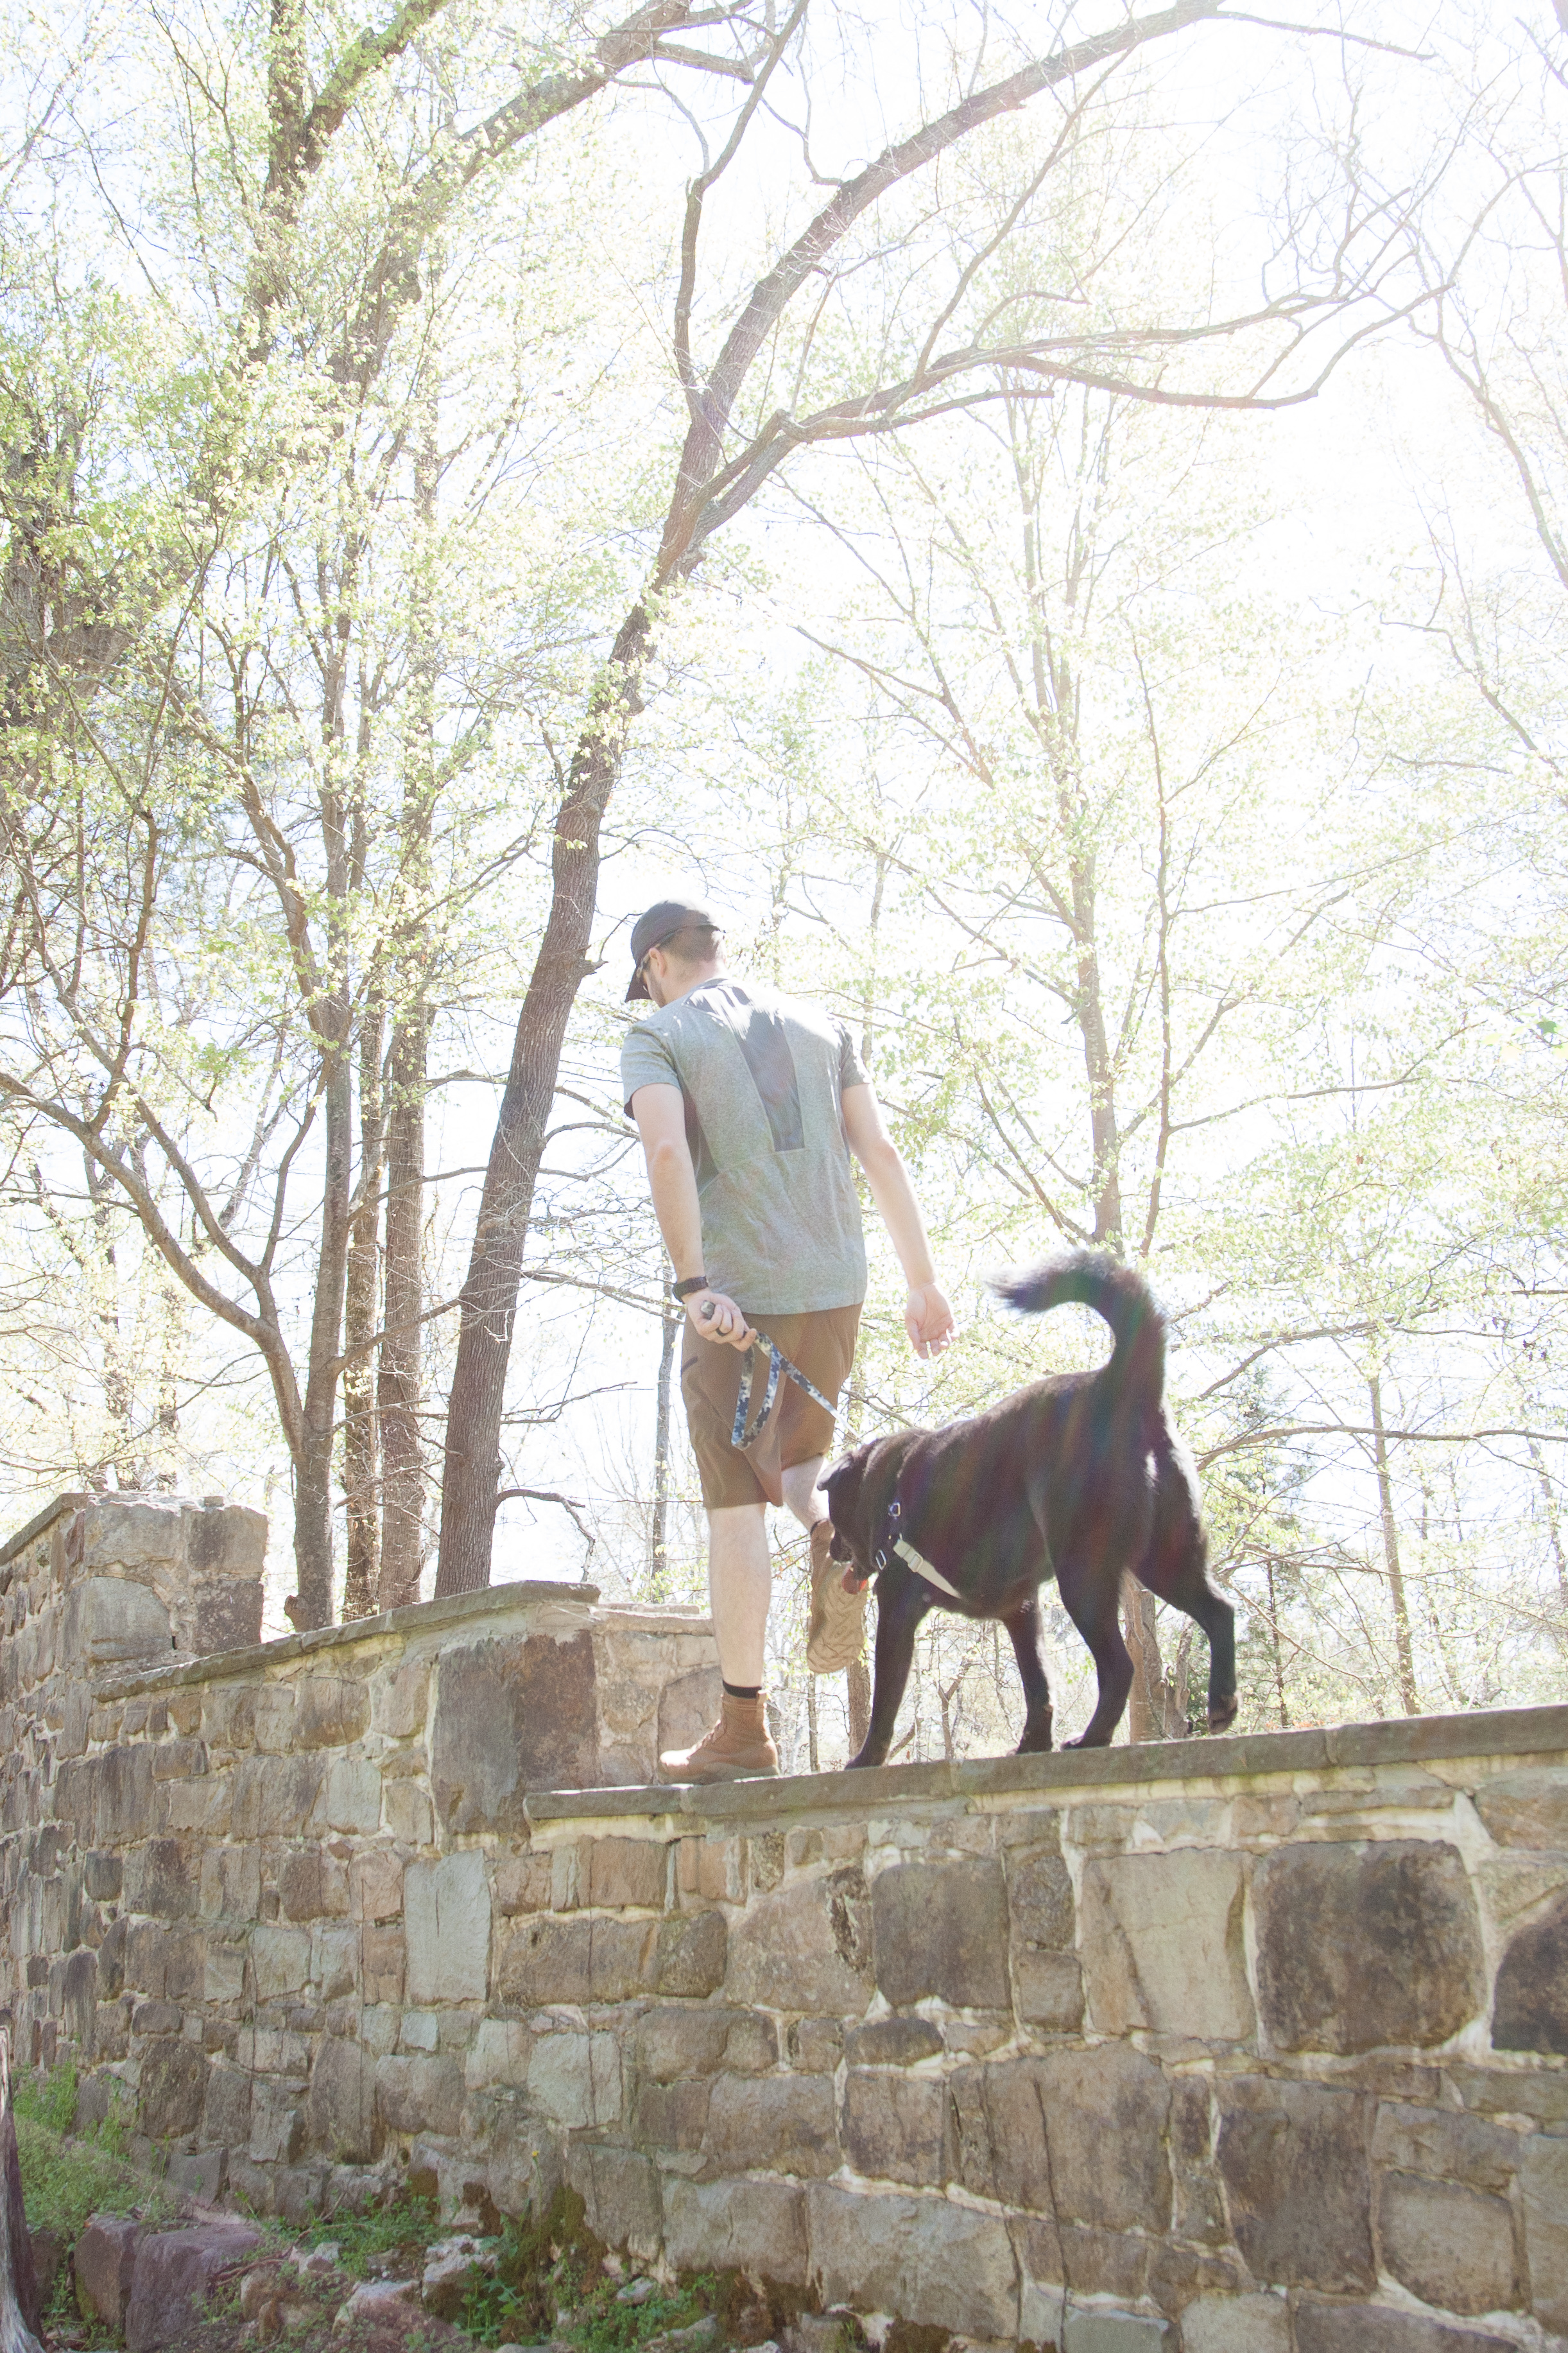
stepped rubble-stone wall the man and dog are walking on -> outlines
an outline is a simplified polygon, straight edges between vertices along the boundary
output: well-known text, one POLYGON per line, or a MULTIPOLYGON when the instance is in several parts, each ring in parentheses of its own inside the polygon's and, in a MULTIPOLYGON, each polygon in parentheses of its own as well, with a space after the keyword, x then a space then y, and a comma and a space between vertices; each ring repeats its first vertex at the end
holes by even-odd
POLYGON ((284 2214, 567 2179, 637 2261, 990 2344, 1568 2344, 1568 1708, 592 1786, 708 1659, 503 1588, 106 1664, 75 1755, 7 1680, 33 2054, 284 2214))

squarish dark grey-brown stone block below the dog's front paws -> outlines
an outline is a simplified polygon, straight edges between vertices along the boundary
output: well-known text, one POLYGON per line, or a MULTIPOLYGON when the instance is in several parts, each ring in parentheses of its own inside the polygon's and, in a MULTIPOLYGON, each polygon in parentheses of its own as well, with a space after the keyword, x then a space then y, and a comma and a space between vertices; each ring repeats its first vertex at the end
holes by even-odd
POLYGON ((891 1864, 872 1880, 877 1986, 889 2002, 936 1993, 954 2009, 1006 2009, 1006 1882, 994 1857, 891 1864))

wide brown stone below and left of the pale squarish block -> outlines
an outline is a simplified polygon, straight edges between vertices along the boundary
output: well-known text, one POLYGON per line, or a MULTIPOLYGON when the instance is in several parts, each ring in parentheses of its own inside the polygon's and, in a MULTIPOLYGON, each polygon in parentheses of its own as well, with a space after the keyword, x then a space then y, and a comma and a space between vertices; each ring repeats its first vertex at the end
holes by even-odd
POLYGON ((1100 2231, 1171 2221, 1171 2092, 1143 2052, 1105 2042, 947 2078, 969 2191, 1100 2231))

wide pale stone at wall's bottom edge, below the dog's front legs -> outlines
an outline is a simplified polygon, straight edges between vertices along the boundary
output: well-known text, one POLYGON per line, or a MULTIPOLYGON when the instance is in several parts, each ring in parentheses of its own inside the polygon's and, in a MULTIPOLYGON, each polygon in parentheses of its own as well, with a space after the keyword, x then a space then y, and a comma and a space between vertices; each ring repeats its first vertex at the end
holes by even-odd
POLYGON ((823 2304, 898 2313, 964 2337, 1018 2334, 1018 2266, 994 2214, 945 2198, 813 2184, 811 2271, 823 2304))

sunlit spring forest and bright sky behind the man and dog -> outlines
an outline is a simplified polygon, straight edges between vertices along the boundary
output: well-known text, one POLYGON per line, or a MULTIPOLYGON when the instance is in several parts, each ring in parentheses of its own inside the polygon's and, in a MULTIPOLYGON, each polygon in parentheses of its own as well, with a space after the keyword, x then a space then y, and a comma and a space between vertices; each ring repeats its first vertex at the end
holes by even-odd
MULTIPOLYGON (((616 1092, 693 892, 959 1304, 875 1238, 851 1438, 1126 1252, 1241 1722, 1561 1697, 1568 0, 614 5, 5 12, 9 1520, 259 1504, 270 1631, 698 1600, 616 1092)), ((929 1619, 900 1753, 1018 1718, 929 1619)))

